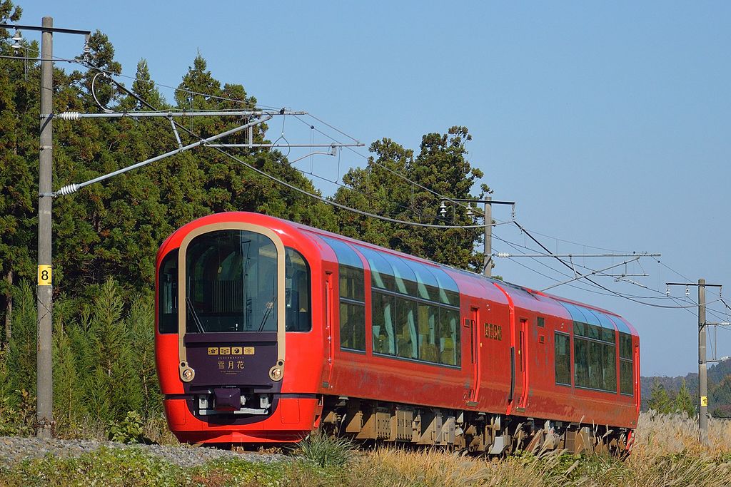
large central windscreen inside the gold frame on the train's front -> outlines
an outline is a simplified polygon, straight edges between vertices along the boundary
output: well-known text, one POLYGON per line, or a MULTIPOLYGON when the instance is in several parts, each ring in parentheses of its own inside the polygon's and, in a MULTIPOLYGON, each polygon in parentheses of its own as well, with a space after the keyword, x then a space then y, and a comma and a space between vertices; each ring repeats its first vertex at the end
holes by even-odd
POLYGON ((195 237, 186 253, 186 331, 276 331, 278 278, 276 247, 265 235, 195 237))

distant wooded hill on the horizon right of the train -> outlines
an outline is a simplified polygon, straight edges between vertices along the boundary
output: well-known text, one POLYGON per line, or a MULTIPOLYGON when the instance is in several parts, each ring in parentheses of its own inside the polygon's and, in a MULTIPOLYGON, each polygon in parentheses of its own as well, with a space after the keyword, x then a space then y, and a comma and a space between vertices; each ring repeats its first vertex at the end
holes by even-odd
MULTIPOLYGON (((648 409, 650 391, 654 380, 664 386, 670 396, 675 396, 685 379, 690 394, 695 398, 698 395, 698 373, 677 377, 650 376, 640 377, 642 388, 642 410, 648 409)), ((717 364, 708 367, 708 410, 716 418, 731 418, 731 358, 725 358, 717 364)))

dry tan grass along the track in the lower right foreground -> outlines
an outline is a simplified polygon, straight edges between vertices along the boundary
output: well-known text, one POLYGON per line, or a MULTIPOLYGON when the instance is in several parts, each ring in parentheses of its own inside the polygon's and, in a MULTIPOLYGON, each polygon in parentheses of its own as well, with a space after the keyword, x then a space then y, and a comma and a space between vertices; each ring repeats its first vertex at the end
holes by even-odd
POLYGON ((439 450, 381 448, 349 465, 352 486, 731 486, 731 423, 709 422, 709 445, 693 420, 643 414, 632 455, 548 452, 487 460, 439 450))

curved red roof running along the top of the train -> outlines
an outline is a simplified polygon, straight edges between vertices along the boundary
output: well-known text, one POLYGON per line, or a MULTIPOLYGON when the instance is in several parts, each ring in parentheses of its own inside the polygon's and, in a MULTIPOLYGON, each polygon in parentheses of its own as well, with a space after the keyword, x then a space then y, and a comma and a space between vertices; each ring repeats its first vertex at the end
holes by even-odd
POLYGON ((373 245, 368 242, 345 237, 341 234, 335 234, 330 231, 317 229, 311 226, 303 225, 302 223, 295 223, 292 221, 284 220, 282 218, 262 215, 261 213, 225 212, 215 213, 213 215, 207 215, 202 218, 197 218, 197 220, 187 223, 186 225, 175 231, 172 235, 170 235, 170 237, 165 239, 165 241, 160 246, 158 259, 162 257, 163 253, 167 253, 170 248, 177 248, 180 245, 180 242, 185 234, 187 234, 189 231, 192 231, 193 229, 198 228, 199 226, 205 225, 207 223, 240 221, 240 219, 242 218, 246 218, 247 220, 251 220, 253 218, 254 220, 259 221, 270 221, 272 222, 272 224, 270 224, 269 226, 271 226, 273 230, 279 231, 280 233, 287 233, 287 227, 289 227, 289 229, 298 231, 298 233, 300 233, 303 237, 306 237, 315 245, 317 245, 318 248, 322 247, 322 243, 317 241, 316 238, 326 237, 328 239, 336 239, 341 242, 347 242, 350 245, 356 246, 356 248, 366 248, 379 253, 386 253, 392 256, 398 256, 408 261, 414 261, 421 264, 426 264, 428 266, 435 266, 439 269, 442 269, 444 272, 447 273, 447 275, 452 277, 460 290, 463 292, 466 292, 466 289, 469 289, 469 291, 471 291, 469 294, 487 297, 488 299, 495 300, 497 302, 505 302, 505 299, 502 297, 502 293, 500 291, 502 290, 504 291, 504 293, 509 295, 512 302, 514 302, 519 307, 524 307, 526 309, 534 310, 537 312, 546 312, 549 314, 562 316, 567 320, 589 323, 595 326, 600 326, 602 328, 616 328, 619 331, 637 335, 637 330, 635 329, 635 327, 632 326, 620 315, 616 314, 615 312, 592 306, 591 304, 584 304, 574 301, 572 299, 563 298, 561 296, 547 294, 542 291, 537 291, 522 285, 510 283, 508 281, 496 280, 491 277, 485 277, 484 275, 470 272, 465 269, 457 269, 452 266, 429 261, 425 258, 420 258, 417 256, 412 256, 403 252, 399 252, 398 250, 391 250, 388 248, 379 247, 378 245, 373 245), (279 228, 276 228, 273 225, 273 222, 277 222, 279 228), (485 296, 485 294, 487 296, 485 296))

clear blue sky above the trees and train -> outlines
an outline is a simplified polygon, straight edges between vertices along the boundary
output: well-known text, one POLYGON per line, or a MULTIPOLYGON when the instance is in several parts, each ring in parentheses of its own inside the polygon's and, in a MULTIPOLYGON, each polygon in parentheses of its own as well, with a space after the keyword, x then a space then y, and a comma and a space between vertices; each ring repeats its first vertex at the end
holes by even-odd
MULTIPOLYGON (((21 23, 39 24, 50 15, 57 27, 103 31, 125 74, 133 75, 145 58, 164 85, 178 85, 200 51, 222 82, 244 85, 261 104, 317 115, 366 143, 362 155, 381 137, 417 149, 425 133, 467 126, 469 158, 485 172, 493 197, 518 202, 518 221, 544 234, 537 237, 550 250, 662 253, 662 264, 643 258, 641 269, 628 269, 646 272, 632 279, 647 288, 611 277, 597 282, 671 306, 677 302, 664 297, 666 281, 705 277, 731 286, 731 4, 393 3, 20 4, 21 23)), ((59 34, 54 47, 56 56, 72 57, 81 39, 59 34)), ((172 92, 162 93, 173 99, 172 92)), ((281 130, 272 124, 270 137, 281 130)), ((284 133, 292 143, 311 140, 296 120, 287 120, 284 133)), ((290 159, 304 155, 293 150, 290 159)), ((345 150, 339 158, 315 156, 298 166, 338 180, 363 162, 345 150)), ((315 183, 325 193, 335 188, 315 183)), ((498 207, 493 215, 510 218, 498 207)), ((530 243, 512 226, 496 227, 494 234, 530 243)), ((515 252, 497 240, 493 249, 515 252)), ((586 259, 594 269, 619 262, 586 259)), ((547 259, 500 259, 495 273, 539 289, 566 279, 546 266, 561 268, 547 259)), ((694 308, 648 307, 579 287, 553 292, 634 323, 643 375, 697 370, 694 308)), ((684 299, 685 289, 674 288, 673 295, 684 299)), ((690 296, 697 296, 694 288, 690 296)), ((717 299, 709 290, 708 301, 717 299)), ((723 309, 717 301, 712 308, 723 309)), ((709 319, 728 321, 724 312, 709 319)), ((731 355, 731 331, 719 330, 718 344, 719 356, 731 355)))

